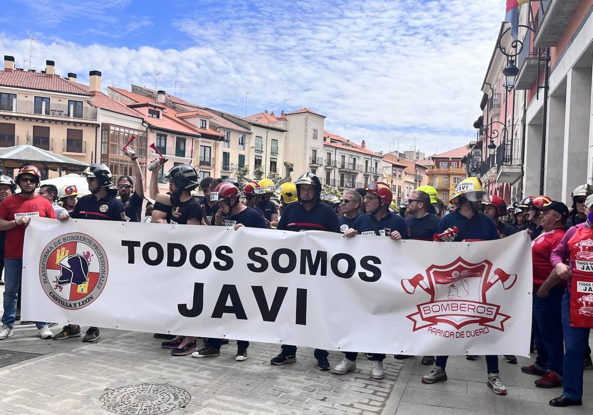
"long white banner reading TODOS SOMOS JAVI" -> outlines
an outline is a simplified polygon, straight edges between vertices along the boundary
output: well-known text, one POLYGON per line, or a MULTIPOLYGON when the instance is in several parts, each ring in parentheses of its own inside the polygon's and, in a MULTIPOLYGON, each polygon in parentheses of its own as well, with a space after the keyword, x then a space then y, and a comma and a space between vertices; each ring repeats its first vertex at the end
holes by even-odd
POLYGON ((25 320, 403 355, 528 356, 530 238, 33 218, 25 320))

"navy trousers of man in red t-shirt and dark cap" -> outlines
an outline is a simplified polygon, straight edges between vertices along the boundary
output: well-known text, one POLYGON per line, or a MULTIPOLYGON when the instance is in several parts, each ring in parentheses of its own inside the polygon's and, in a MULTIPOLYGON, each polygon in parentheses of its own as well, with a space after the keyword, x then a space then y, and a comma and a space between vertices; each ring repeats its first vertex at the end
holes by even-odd
POLYGON ((564 337, 562 334, 562 296, 566 288, 555 286, 546 298, 533 293, 533 337, 537 346, 535 366, 562 376, 564 337))

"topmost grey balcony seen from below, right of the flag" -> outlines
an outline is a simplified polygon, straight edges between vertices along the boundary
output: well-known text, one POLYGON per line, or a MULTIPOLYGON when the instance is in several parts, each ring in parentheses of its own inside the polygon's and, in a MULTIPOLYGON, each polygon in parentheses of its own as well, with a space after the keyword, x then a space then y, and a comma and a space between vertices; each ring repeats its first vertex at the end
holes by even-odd
POLYGON ((582 0, 542 0, 537 13, 535 47, 557 46, 582 0))

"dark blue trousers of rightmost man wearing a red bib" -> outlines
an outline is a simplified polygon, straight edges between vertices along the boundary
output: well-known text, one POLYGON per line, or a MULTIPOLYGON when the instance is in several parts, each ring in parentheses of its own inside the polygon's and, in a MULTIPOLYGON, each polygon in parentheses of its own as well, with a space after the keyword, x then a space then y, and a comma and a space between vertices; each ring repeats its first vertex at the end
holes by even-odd
POLYGON ((572 400, 583 396, 583 369, 585 348, 589 343, 591 329, 570 327, 570 291, 565 290, 562 298, 562 324, 564 327, 564 365, 562 373, 562 394, 572 400))

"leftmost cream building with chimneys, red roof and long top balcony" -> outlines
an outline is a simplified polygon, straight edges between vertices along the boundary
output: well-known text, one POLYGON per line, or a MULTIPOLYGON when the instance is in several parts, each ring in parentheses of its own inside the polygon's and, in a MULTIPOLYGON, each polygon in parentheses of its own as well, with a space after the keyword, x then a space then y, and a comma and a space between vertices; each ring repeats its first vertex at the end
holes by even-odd
MULTIPOLYGON (((93 92, 100 90, 100 77, 100 72, 91 71, 90 85, 80 85, 75 74, 57 75, 53 60, 46 61, 44 71, 24 71, 15 67, 14 57, 4 56, 0 146, 30 144, 82 162, 94 161, 100 110, 93 105, 93 92)), ((42 171, 43 178, 60 173, 42 171)))

